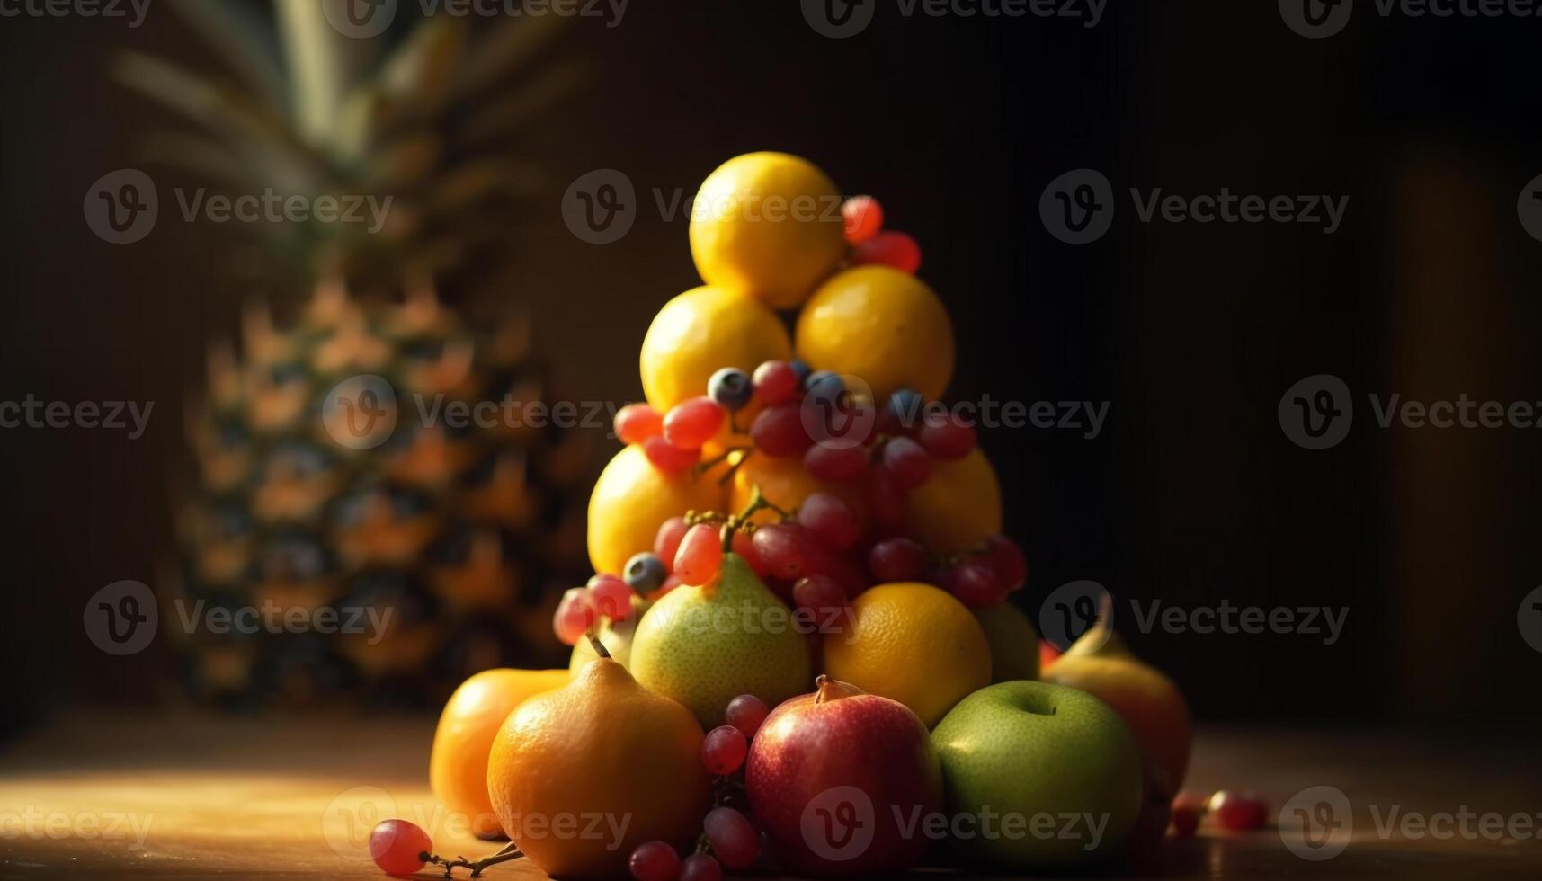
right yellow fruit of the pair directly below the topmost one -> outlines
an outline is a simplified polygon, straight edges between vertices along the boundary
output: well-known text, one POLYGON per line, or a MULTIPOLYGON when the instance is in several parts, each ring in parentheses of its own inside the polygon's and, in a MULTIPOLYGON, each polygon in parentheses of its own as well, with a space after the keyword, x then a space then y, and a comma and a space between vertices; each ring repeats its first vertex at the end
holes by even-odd
POLYGON ((953 378, 953 322, 916 276, 853 267, 808 298, 797 316, 797 356, 814 370, 860 378, 879 406, 899 389, 933 401, 953 378))

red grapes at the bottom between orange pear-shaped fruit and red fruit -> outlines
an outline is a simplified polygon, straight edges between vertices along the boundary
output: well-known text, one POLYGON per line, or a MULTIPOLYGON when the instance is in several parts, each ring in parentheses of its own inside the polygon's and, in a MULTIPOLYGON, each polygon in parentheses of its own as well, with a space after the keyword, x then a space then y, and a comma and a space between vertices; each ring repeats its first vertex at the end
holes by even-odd
POLYGON ((749 869, 765 850, 762 835, 736 804, 743 790, 745 756, 749 741, 771 710, 754 694, 740 694, 728 704, 728 724, 706 733, 702 764, 717 778, 712 810, 702 819, 702 844, 685 859, 665 841, 637 846, 628 866, 637 881, 717 881, 723 867, 749 869), (729 804, 732 802, 732 804, 729 804))

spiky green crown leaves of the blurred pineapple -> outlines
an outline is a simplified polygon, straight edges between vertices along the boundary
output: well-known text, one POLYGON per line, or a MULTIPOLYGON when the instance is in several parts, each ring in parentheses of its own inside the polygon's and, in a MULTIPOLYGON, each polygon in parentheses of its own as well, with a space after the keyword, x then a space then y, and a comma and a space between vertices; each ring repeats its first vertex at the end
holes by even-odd
POLYGON ((393 284, 500 242, 520 199, 541 185, 515 142, 588 79, 571 59, 537 65, 567 23, 560 15, 475 28, 430 15, 399 35, 353 39, 318 0, 273 0, 271 17, 242 0, 168 2, 233 79, 120 54, 117 80, 196 127, 146 137, 148 160, 236 193, 392 196, 379 235, 265 224, 316 273, 367 265, 370 281, 393 284))

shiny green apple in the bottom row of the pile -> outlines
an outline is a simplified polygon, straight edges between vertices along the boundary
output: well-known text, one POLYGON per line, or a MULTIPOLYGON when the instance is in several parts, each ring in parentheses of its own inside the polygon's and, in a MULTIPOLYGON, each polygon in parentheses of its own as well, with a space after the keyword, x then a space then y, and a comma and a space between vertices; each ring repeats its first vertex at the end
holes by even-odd
POLYGON ((1052 815, 1052 832, 950 838, 967 858, 1010 872, 1075 869, 1115 852, 1143 801, 1141 750, 1129 725, 1086 691, 1047 682, 988 685, 931 733, 942 759, 948 816, 1052 815), (1106 822, 1096 847, 1086 819, 1069 835, 1061 815, 1106 822))

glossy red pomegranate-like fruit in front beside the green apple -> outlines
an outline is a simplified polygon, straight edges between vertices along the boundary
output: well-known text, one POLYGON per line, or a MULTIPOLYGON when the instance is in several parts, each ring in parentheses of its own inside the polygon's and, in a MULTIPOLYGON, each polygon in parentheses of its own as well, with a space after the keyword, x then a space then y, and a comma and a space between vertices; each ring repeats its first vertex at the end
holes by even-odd
POLYGON ((817 694, 777 707, 749 747, 745 788, 777 856, 796 873, 819 876, 894 875, 917 866, 931 839, 907 836, 904 821, 942 810, 942 768, 927 727, 888 697, 817 694), (839 808, 840 796, 814 804, 834 787, 856 787, 871 802, 873 838, 860 853, 840 847, 839 829, 823 839, 805 835, 806 813, 839 808))

